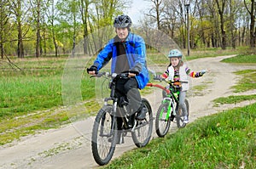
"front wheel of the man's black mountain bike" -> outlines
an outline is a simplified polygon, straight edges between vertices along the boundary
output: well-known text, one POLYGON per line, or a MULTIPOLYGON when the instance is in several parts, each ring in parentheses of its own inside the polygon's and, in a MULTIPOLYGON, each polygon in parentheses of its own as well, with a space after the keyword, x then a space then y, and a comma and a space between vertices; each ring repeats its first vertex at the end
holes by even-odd
POLYGON ((92 155, 96 163, 101 166, 108 164, 112 159, 116 145, 117 125, 112 110, 112 105, 104 106, 99 110, 92 129, 92 155))

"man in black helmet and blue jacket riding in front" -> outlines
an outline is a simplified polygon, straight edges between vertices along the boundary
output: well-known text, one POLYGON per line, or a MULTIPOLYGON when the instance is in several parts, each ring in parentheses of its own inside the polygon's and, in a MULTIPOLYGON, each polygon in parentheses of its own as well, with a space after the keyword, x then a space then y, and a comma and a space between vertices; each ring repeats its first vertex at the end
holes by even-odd
POLYGON ((112 73, 119 74, 125 70, 137 72, 136 74, 129 73, 128 80, 119 80, 116 93, 118 96, 126 95, 130 113, 137 113, 137 120, 143 120, 147 110, 142 104, 138 88, 143 89, 149 79, 145 42, 142 37, 131 33, 131 18, 128 15, 122 14, 116 17, 113 26, 117 35, 97 55, 94 64, 87 69, 87 72, 95 76, 110 59, 112 59, 112 73))

